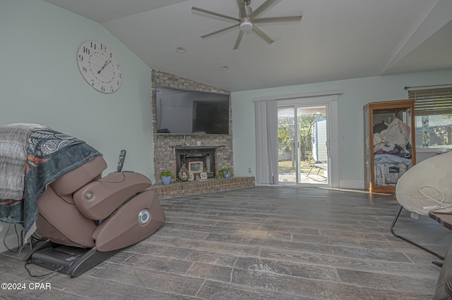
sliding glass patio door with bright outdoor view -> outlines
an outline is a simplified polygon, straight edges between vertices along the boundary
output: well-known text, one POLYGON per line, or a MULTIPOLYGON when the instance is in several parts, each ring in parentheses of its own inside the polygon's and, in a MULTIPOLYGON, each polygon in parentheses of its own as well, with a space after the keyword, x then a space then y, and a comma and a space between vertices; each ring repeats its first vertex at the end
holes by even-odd
POLYGON ((329 185, 328 105, 278 107, 278 182, 329 185))

